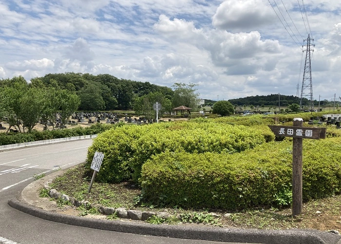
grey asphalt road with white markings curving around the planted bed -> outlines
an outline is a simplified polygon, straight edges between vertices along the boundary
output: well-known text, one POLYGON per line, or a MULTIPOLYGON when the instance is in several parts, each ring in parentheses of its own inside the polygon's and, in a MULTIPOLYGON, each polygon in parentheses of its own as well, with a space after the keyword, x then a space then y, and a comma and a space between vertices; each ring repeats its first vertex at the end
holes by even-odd
POLYGON ((34 181, 35 175, 84 162, 91 143, 81 140, 0 152, 0 244, 222 244, 60 224, 27 215, 7 204, 34 181))

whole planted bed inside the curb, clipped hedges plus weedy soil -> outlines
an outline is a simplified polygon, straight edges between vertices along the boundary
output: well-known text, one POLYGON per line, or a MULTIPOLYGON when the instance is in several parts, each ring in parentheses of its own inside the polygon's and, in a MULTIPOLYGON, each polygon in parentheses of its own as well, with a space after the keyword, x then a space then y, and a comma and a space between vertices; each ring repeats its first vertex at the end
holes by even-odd
POLYGON ((51 187, 90 203, 172 216, 152 217, 152 224, 340 230, 341 130, 328 125, 326 139, 303 140, 303 213, 292 217, 292 141, 276 138, 271 123, 259 115, 116 127, 94 140, 87 163, 51 187), (105 158, 87 193, 95 151, 105 158))

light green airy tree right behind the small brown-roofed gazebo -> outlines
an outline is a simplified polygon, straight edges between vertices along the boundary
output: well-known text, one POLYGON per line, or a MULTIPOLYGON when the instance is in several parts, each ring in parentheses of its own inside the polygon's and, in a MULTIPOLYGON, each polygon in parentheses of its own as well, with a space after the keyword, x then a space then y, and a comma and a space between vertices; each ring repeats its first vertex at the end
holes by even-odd
POLYGON ((195 86, 197 86, 197 84, 174 83, 174 85, 172 85, 172 87, 174 87, 172 106, 178 107, 184 105, 186 107, 196 108, 199 104, 200 94, 195 92, 195 86))

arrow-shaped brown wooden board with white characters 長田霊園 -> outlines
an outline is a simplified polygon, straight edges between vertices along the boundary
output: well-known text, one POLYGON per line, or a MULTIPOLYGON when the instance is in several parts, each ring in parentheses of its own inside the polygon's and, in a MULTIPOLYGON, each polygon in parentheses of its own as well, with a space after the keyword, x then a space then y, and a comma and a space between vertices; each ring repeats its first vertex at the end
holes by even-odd
POLYGON ((325 139, 325 127, 299 127, 268 125, 272 132, 279 137, 295 137, 304 139, 325 139))

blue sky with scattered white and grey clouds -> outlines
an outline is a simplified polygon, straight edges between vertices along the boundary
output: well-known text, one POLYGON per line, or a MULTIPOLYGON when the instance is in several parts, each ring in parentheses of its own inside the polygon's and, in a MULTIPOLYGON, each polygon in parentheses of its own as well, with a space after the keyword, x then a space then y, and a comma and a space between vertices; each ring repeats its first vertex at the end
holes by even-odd
POLYGON ((313 98, 341 101, 340 13, 338 0, 0 0, 0 78, 80 72, 194 83, 215 101, 301 96, 309 34, 313 98))

